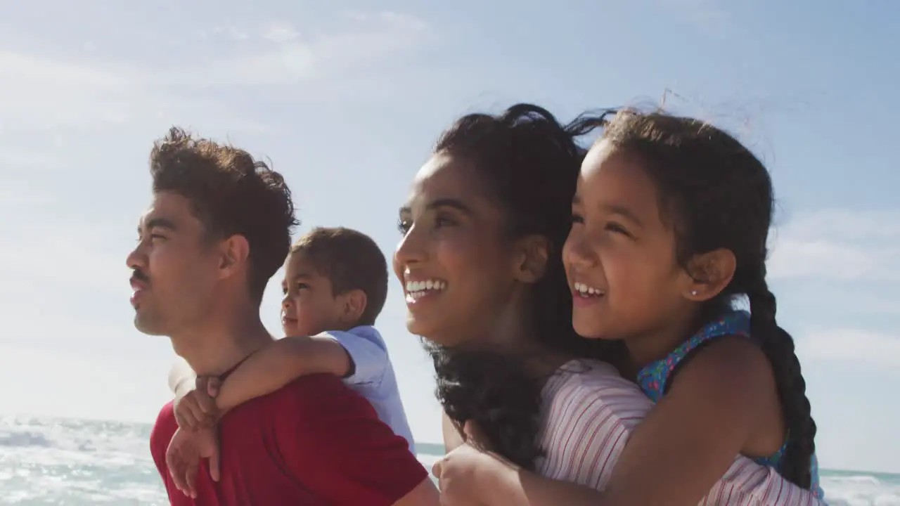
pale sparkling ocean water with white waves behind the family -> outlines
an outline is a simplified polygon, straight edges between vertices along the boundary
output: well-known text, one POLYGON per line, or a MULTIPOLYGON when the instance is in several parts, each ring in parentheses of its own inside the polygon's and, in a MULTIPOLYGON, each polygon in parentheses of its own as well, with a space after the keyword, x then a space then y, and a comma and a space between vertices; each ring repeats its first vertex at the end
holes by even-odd
MULTIPOLYGON (((0 417, 0 504, 168 504, 148 449, 150 426, 114 421, 0 417)), ((441 447, 420 444, 434 463, 441 447)), ((900 506, 900 475, 824 471, 830 504, 900 506)))

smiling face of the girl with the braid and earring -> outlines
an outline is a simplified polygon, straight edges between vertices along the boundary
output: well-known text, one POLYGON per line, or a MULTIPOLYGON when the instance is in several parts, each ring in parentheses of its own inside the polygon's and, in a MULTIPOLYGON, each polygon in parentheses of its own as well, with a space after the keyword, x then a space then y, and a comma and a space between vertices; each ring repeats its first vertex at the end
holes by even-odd
POLYGON ((563 248, 575 330, 627 340, 690 312, 683 294, 691 279, 676 261, 675 239, 642 160, 600 140, 581 166, 563 248))

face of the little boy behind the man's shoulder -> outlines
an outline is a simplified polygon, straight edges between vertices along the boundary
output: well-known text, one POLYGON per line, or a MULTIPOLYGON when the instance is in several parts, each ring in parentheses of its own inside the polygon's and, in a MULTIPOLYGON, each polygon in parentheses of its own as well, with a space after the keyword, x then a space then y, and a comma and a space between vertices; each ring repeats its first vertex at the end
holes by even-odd
POLYGON ((332 293, 329 278, 321 276, 302 252, 291 253, 287 258, 282 293, 285 336, 314 336, 344 325, 344 297, 332 293))

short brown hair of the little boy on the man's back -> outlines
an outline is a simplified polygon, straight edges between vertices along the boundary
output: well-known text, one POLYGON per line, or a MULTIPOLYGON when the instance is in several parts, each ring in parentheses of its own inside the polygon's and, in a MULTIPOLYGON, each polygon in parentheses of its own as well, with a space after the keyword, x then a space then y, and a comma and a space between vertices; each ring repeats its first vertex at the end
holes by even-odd
POLYGON ((297 239, 291 253, 302 253, 328 277, 335 295, 362 290, 365 310, 357 323, 374 325, 388 294, 388 264, 372 238, 345 227, 316 227, 297 239))

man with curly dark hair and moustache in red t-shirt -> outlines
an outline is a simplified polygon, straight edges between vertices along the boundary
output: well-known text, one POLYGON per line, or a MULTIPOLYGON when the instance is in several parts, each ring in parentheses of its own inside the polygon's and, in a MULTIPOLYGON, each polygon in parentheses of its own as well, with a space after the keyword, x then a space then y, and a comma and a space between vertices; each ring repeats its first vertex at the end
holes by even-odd
MULTIPOLYGON (((128 256, 135 327, 168 336, 196 375, 223 377, 273 339, 259 306, 291 247, 291 193, 247 151, 178 128, 155 143, 150 175, 128 256)), ((438 503, 406 441, 335 375, 302 377, 225 414, 220 455, 185 492, 166 465, 180 430, 169 402, 150 449, 172 504, 438 503)))

